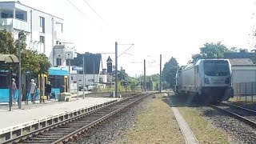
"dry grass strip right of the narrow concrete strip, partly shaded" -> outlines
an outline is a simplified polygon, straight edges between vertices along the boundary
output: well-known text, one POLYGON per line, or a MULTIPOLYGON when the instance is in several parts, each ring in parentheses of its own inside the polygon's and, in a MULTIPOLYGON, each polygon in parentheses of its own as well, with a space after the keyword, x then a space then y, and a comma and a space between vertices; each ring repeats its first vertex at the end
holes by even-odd
POLYGON ((216 128, 201 111, 188 106, 190 102, 187 102, 187 98, 175 96, 174 93, 170 94, 169 98, 178 108, 199 143, 230 143, 225 132, 216 128))

